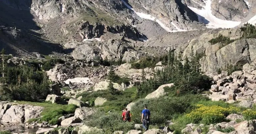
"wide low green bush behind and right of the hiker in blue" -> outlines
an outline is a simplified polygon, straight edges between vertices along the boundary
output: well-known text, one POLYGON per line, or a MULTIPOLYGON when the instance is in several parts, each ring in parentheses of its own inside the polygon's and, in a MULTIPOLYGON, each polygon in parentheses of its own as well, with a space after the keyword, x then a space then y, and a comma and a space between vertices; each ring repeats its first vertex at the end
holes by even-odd
POLYGON ((161 97, 158 99, 142 99, 132 107, 132 120, 135 123, 141 122, 141 111, 147 105, 152 115, 150 121, 153 125, 163 125, 167 120, 177 114, 183 114, 193 109, 193 103, 201 99, 207 100, 201 95, 184 95, 180 97, 161 97))

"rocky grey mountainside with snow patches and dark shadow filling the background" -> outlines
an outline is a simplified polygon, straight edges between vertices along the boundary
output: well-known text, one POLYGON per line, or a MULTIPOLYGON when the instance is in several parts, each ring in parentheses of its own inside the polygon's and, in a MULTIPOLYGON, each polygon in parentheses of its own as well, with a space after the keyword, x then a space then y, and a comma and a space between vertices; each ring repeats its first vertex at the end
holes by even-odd
MULTIPOLYGON (((72 51, 69 47, 68 50, 64 50, 66 43, 92 40, 95 42, 93 44, 99 44, 116 38, 122 39, 122 37, 124 39, 121 42, 126 42, 136 51, 141 49, 136 47, 142 46, 148 49, 147 46, 151 44, 182 45, 184 42, 181 41, 186 41, 183 38, 198 32, 182 32, 175 38, 173 36, 176 34, 168 35, 168 32, 191 30, 207 32, 203 23, 211 28, 235 27, 246 21, 253 23, 255 13, 254 1, 230 3, 217 0, 163 2, 2 0, 2 3, 1 12, 4 13, 1 14, 3 19, 0 21, 1 48, 6 48, 10 53, 19 56, 33 56, 32 52, 44 55, 52 52, 69 53, 72 51), (226 23, 229 23, 228 27, 225 26, 226 23), (179 42, 173 44, 173 41, 160 41, 165 38, 174 38, 179 42), (36 46, 30 47, 31 45, 36 46)), ((162 51, 162 49, 166 48, 158 50, 162 51)), ((114 55, 123 57, 124 51, 122 54, 114 55)), ((108 56, 101 57, 104 59, 108 56)), ((132 57, 130 59, 138 59, 140 56, 133 54, 132 57)))

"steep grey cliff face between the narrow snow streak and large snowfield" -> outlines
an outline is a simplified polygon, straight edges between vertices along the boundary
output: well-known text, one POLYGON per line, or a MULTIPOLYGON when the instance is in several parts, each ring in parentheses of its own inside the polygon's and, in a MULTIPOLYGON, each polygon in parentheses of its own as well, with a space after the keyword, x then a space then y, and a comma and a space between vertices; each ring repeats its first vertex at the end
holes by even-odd
POLYGON ((151 15, 154 18, 152 20, 163 23, 170 31, 198 29, 195 23, 198 21, 197 15, 187 7, 184 1, 128 0, 125 2, 138 13, 151 15))

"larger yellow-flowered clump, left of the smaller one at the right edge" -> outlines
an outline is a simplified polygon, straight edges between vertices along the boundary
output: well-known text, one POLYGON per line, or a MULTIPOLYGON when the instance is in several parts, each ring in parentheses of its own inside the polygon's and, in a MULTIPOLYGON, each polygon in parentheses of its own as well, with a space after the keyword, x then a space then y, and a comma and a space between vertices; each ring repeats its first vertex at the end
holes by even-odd
POLYGON ((223 108, 220 106, 197 105, 197 108, 187 114, 189 120, 193 123, 203 121, 206 124, 221 122, 227 115, 239 111, 236 107, 223 108))

